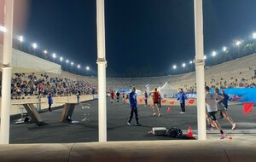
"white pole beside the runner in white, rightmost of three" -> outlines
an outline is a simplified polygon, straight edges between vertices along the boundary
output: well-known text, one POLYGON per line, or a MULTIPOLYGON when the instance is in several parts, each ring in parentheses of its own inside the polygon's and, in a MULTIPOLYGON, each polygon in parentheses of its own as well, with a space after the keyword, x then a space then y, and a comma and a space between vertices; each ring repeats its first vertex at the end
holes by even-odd
POLYGON ((207 140, 202 0, 194 0, 194 7, 198 140, 207 140))

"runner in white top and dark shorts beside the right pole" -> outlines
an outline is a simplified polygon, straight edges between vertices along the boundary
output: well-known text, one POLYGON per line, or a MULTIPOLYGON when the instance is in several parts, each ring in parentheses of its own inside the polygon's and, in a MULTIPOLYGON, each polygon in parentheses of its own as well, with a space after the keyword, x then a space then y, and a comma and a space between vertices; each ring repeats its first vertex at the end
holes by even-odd
MULTIPOLYGON (((220 131, 220 139, 224 139, 227 135, 222 130, 220 124, 218 124, 218 121, 216 119, 215 114, 218 112, 217 102, 222 101, 223 98, 219 95, 216 95, 214 93, 210 93, 210 88, 206 86, 206 105, 207 105, 207 114, 210 119, 212 119, 212 123, 215 125, 215 127, 220 131), (218 98, 218 101, 216 101, 216 98, 218 98)), ((211 127, 211 124, 210 124, 211 127)))

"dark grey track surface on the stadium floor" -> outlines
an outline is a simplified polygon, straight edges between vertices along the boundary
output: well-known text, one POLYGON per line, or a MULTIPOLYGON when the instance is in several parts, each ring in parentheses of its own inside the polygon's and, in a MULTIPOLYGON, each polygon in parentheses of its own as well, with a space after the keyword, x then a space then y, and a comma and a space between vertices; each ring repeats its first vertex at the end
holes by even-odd
MULTIPOLYGON (((72 116, 73 120, 79 121, 79 124, 61 123, 61 109, 54 109, 53 112, 40 113, 44 124, 15 124, 11 119, 10 124, 10 143, 66 143, 66 142, 97 142, 98 141, 98 110, 97 100, 83 103, 90 103, 90 109, 86 113, 90 113, 87 117, 90 121, 82 121, 84 119, 84 110, 76 107, 72 116)), ((142 126, 129 126, 126 124, 130 107, 128 104, 114 103, 108 101, 108 141, 150 141, 150 140, 180 140, 182 138, 170 138, 166 136, 153 136, 148 134, 152 127, 178 127, 186 134, 189 126, 192 127, 193 133, 197 134, 197 116, 196 107, 187 107, 185 114, 179 114, 180 107, 164 106, 161 109, 162 116, 153 117, 153 110, 150 107, 138 107, 139 122, 142 126), (167 112, 167 108, 171 108, 171 113, 167 112)), ((254 107, 255 109, 255 107, 254 107)), ((231 125, 226 119, 220 119, 224 131, 229 136, 250 136, 256 134, 256 115, 255 112, 244 115, 242 113, 242 105, 232 105, 229 107, 228 113, 238 124, 236 130, 230 130, 231 125)), ((134 119, 132 123, 135 123, 134 119)), ((213 132, 207 131, 210 139, 219 139, 217 130, 213 132)), ((209 139, 209 138, 208 138, 209 139)))

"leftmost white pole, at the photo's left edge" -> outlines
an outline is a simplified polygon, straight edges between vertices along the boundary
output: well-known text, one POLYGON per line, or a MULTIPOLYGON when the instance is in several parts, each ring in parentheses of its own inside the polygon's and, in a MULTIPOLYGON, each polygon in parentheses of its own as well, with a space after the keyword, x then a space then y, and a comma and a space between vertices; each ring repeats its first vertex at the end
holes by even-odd
POLYGON ((14 0, 5 0, 4 26, 7 32, 3 36, 3 75, 2 75, 2 103, 1 103, 1 127, 0 144, 9 144, 9 111, 10 89, 12 78, 12 40, 13 40, 13 13, 14 0))

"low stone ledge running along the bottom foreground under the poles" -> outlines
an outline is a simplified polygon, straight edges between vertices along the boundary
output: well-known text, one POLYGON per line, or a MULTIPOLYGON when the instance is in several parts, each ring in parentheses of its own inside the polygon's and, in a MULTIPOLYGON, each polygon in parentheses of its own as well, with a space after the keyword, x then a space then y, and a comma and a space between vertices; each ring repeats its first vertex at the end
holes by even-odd
POLYGON ((255 161, 254 141, 88 142, 0 145, 1 161, 255 161))

